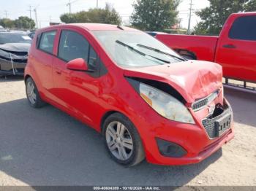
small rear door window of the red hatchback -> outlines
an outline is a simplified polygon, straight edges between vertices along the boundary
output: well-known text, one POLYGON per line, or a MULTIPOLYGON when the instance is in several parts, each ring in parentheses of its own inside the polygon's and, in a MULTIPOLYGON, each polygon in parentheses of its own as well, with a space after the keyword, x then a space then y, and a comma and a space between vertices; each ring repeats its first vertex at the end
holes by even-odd
POLYGON ((48 31, 41 34, 39 49, 45 52, 53 53, 53 44, 56 36, 56 31, 48 31))

